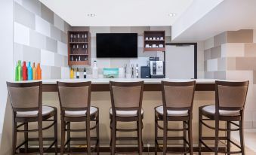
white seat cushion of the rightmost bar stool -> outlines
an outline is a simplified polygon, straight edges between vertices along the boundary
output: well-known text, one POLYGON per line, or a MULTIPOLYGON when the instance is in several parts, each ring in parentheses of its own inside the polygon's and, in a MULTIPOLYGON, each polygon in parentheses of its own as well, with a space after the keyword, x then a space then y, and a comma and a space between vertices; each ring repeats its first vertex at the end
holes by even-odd
MULTIPOLYGON (((202 108, 202 111, 207 113, 207 114, 215 114, 215 105, 208 105, 202 108)), ((240 112, 239 111, 224 111, 224 110, 219 110, 219 113, 221 116, 239 116, 240 112)))

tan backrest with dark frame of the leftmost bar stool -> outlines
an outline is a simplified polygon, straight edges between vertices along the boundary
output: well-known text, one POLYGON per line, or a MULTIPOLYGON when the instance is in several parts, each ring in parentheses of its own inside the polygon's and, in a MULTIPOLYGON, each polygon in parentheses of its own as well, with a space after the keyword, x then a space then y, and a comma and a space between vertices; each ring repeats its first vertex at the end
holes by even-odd
POLYGON ((11 107, 16 111, 39 111, 42 113, 42 82, 7 82, 11 107))

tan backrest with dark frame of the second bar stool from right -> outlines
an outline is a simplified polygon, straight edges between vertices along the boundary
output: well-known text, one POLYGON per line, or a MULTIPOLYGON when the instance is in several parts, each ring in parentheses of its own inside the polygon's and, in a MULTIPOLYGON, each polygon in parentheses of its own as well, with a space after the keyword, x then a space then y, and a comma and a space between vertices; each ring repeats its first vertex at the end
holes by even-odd
POLYGON ((196 81, 162 81, 162 101, 166 110, 192 110, 196 81))

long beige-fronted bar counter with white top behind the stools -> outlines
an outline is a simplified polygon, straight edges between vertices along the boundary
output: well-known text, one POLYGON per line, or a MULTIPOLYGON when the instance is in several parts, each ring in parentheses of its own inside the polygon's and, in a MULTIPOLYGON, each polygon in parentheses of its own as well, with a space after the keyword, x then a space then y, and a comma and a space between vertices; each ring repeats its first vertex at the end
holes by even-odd
MULTIPOLYGON (((100 147, 109 147, 110 129, 109 129, 109 108, 111 107, 109 81, 144 81, 144 93, 142 108, 144 111, 143 117, 143 144, 154 144, 154 108, 162 105, 161 81, 192 81, 193 79, 56 79, 56 80, 42 80, 43 84, 43 105, 51 105, 58 108, 58 118, 60 119, 60 103, 57 96, 57 81, 66 82, 92 82, 91 105, 97 106, 100 111, 100 147)), ((193 102, 193 144, 197 147, 198 144, 198 108, 202 105, 214 104, 214 79, 196 79, 196 93, 193 102)), ((5 125, 3 135, 11 135, 11 105, 8 99, 8 104, 5 112, 5 125)), ((171 127, 179 127, 182 124, 173 122, 168 123, 171 127)), ((74 123, 73 128, 84 128, 85 123, 74 123)), ((131 123, 120 123, 119 126, 133 126, 131 123)), ((32 124, 31 128, 35 128, 36 124, 32 124)), ((60 142, 60 120, 58 120, 58 138, 60 142)), ((211 130, 204 129, 206 135, 211 135, 211 130)), ((44 135, 51 135, 52 131, 44 132, 44 135)), ((92 132, 94 135, 94 132, 92 132)), ((181 135, 182 132, 170 132, 170 135, 181 135)), ((75 133, 75 136, 85 135, 85 133, 75 133)), ((119 135, 119 134, 118 134, 119 135)), ((136 132, 122 133, 122 135, 137 136, 136 132)), ((162 132, 159 132, 162 135, 162 132)), ((36 137, 36 134, 29 136, 36 137)), ((5 137, 11 144, 11 139, 5 137)), ((23 135, 20 138, 23 139, 23 135)), ((181 141, 173 141, 173 144, 181 141)), ((136 141, 128 141, 128 144, 136 144, 136 141)), ((11 145, 10 145, 11 146, 11 145)))

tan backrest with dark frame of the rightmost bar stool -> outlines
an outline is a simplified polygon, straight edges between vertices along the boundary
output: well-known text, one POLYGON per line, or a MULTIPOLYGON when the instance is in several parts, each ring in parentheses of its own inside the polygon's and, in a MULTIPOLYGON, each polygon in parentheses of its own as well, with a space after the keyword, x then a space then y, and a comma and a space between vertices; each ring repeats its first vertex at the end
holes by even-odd
POLYGON ((248 92, 248 81, 215 81, 216 110, 242 110, 248 92))

